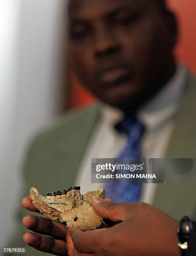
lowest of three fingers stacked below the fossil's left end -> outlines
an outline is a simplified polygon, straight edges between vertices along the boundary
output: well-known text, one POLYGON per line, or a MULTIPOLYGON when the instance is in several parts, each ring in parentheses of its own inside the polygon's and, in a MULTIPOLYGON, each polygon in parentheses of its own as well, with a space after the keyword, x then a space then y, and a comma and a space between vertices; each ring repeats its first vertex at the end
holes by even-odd
POLYGON ((63 240, 53 239, 47 236, 40 236, 34 233, 26 233, 23 240, 28 246, 36 248, 39 251, 52 253, 55 255, 66 254, 66 242, 63 240))

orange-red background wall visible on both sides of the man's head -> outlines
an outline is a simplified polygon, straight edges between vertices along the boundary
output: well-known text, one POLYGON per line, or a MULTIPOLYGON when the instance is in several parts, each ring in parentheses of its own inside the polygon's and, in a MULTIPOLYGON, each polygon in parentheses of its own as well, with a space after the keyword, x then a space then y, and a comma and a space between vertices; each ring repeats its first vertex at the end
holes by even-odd
MULTIPOLYGON (((180 38, 176 49, 178 60, 196 73, 196 0, 168 0, 177 13, 180 38)), ((69 73, 69 108, 90 104, 93 96, 69 73)))

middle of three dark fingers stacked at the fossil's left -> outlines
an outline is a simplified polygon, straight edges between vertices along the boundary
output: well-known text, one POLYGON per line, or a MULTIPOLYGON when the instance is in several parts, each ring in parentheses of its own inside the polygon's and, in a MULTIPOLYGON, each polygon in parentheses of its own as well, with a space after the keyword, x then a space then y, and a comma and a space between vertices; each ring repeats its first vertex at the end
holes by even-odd
POLYGON ((57 221, 28 215, 23 218, 22 222, 26 228, 32 230, 33 232, 47 236, 54 236, 56 238, 66 238, 66 225, 57 221))

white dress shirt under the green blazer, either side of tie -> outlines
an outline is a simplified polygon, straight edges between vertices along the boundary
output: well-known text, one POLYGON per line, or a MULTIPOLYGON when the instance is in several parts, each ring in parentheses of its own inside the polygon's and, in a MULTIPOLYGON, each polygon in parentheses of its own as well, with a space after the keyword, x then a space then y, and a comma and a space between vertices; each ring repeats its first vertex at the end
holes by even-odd
MULTIPOLYGON (((185 90, 185 67, 178 65, 176 73, 168 84, 138 111, 137 118, 145 125, 141 141, 143 158, 163 158, 168 148, 179 101, 185 90)), ((115 158, 125 148, 126 136, 118 133, 114 125, 122 118, 120 110, 103 105, 101 118, 92 133, 89 145, 84 152, 75 184, 81 186, 81 192, 105 187, 106 184, 91 183, 91 159, 115 158)), ((152 203, 156 184, 144 184, 141 201, 152 203)))

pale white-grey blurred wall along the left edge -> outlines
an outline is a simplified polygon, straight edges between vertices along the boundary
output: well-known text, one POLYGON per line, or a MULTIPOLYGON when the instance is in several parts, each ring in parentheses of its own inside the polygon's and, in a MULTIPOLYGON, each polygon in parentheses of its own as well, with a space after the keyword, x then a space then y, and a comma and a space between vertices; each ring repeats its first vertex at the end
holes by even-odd
POLYGON ((25 146, 59 112, 64 2, 0 0, 0 246, 15 226, 25 146))

